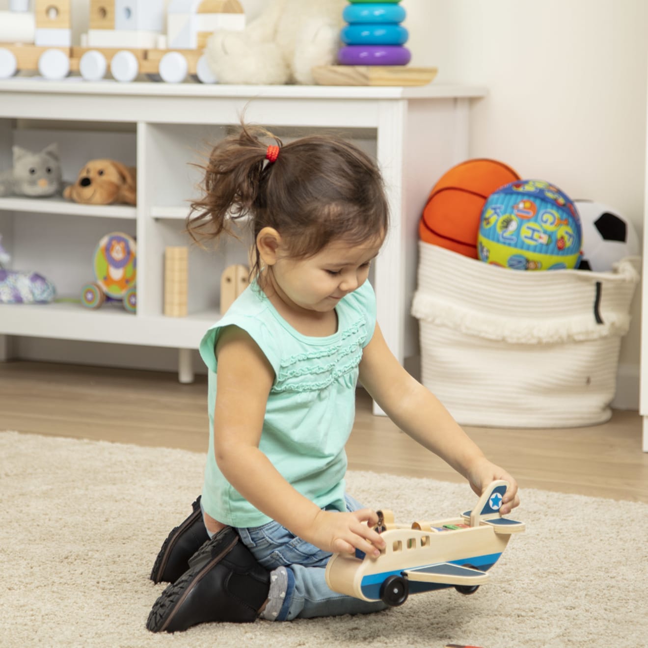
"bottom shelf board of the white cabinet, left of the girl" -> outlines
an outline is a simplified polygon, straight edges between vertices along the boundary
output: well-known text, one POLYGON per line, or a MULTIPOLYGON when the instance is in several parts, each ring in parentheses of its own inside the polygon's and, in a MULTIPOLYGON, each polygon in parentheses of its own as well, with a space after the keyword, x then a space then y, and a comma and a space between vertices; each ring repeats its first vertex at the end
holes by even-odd
POLYGON ((98 310, 69 302, 0 304, 0 335, 198 349, 202 336, 218 319, 217 310, 168 318, 133 315, 116 304, 98 310))

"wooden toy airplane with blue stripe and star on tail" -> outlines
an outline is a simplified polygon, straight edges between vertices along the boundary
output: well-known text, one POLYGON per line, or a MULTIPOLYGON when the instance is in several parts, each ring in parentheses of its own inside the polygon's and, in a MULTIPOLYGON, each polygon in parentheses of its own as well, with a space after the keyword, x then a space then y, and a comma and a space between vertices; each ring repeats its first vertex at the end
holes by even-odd
POLYGON ((402 605, 409 594, 456 588, 473 594, 489 580, 486 573, 502 555, 511 534, 524 523, 503 518, 500 506, 507 481, 493 481, 476 507, 460 518, 394 524, 391 511, 378 511, 378 527, 386 542, 380 556, 362 551, 334 553, 326 580, 335 592, 364 601, 402 605))

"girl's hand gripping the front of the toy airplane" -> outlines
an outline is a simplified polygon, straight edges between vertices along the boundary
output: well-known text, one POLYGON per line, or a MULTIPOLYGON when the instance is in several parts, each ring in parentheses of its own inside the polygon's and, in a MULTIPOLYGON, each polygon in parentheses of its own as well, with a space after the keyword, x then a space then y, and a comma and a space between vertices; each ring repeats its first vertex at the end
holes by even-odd
POLYGON ((378 515, 371 509, 348 513, 319 511, 310 532, 303 537, 323 551, 354 553, 359 549, 369 556, 378 557, 380 550, 385 548, 385 541, 373 530, 376 524, 378 515), (369 526, 365 522, 369 522, 369 526))

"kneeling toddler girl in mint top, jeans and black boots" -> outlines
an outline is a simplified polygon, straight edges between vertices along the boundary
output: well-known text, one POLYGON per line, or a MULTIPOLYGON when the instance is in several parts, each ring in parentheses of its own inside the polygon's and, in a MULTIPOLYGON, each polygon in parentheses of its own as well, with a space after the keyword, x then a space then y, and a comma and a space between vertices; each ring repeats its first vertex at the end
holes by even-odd
POLYGON ((329 136, 285 146, 243 126, 218 143, 192 205, 196 240, 249 219, 256 279, 207 331, 209 452, 202 496, 163 544, 151 578, 170 581, 148 629, 381 610, 332 592, 332 552, 378 555, 374 511, 345 492, 358 379, 401 430, 481 491, 507 480, 441 403, 401 367, 376 323, 367 277, 388 235, 375 162, 329 136))

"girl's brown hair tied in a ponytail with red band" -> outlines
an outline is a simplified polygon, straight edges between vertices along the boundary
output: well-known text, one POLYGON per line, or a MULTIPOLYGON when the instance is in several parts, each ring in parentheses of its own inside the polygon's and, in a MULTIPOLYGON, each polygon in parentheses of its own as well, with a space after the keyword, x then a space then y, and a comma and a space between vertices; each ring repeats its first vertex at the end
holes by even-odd
MULTIPOLYGON (((191 203, 187 218, 196 242, 235 235, 233 222, 246 216, 255 240, 274 227, 294 258, 315 255, 333 240, 354 245, 388 231, 375 161, 340 137, 310 135, 284 146, 267 130, 243 124, 214 146, 203 168, 203 197, 191 203), (273 163, 266 160, 268 138, 279 145, 273 163)), ((252 272, 259 270, 255 247, 252 272)))

